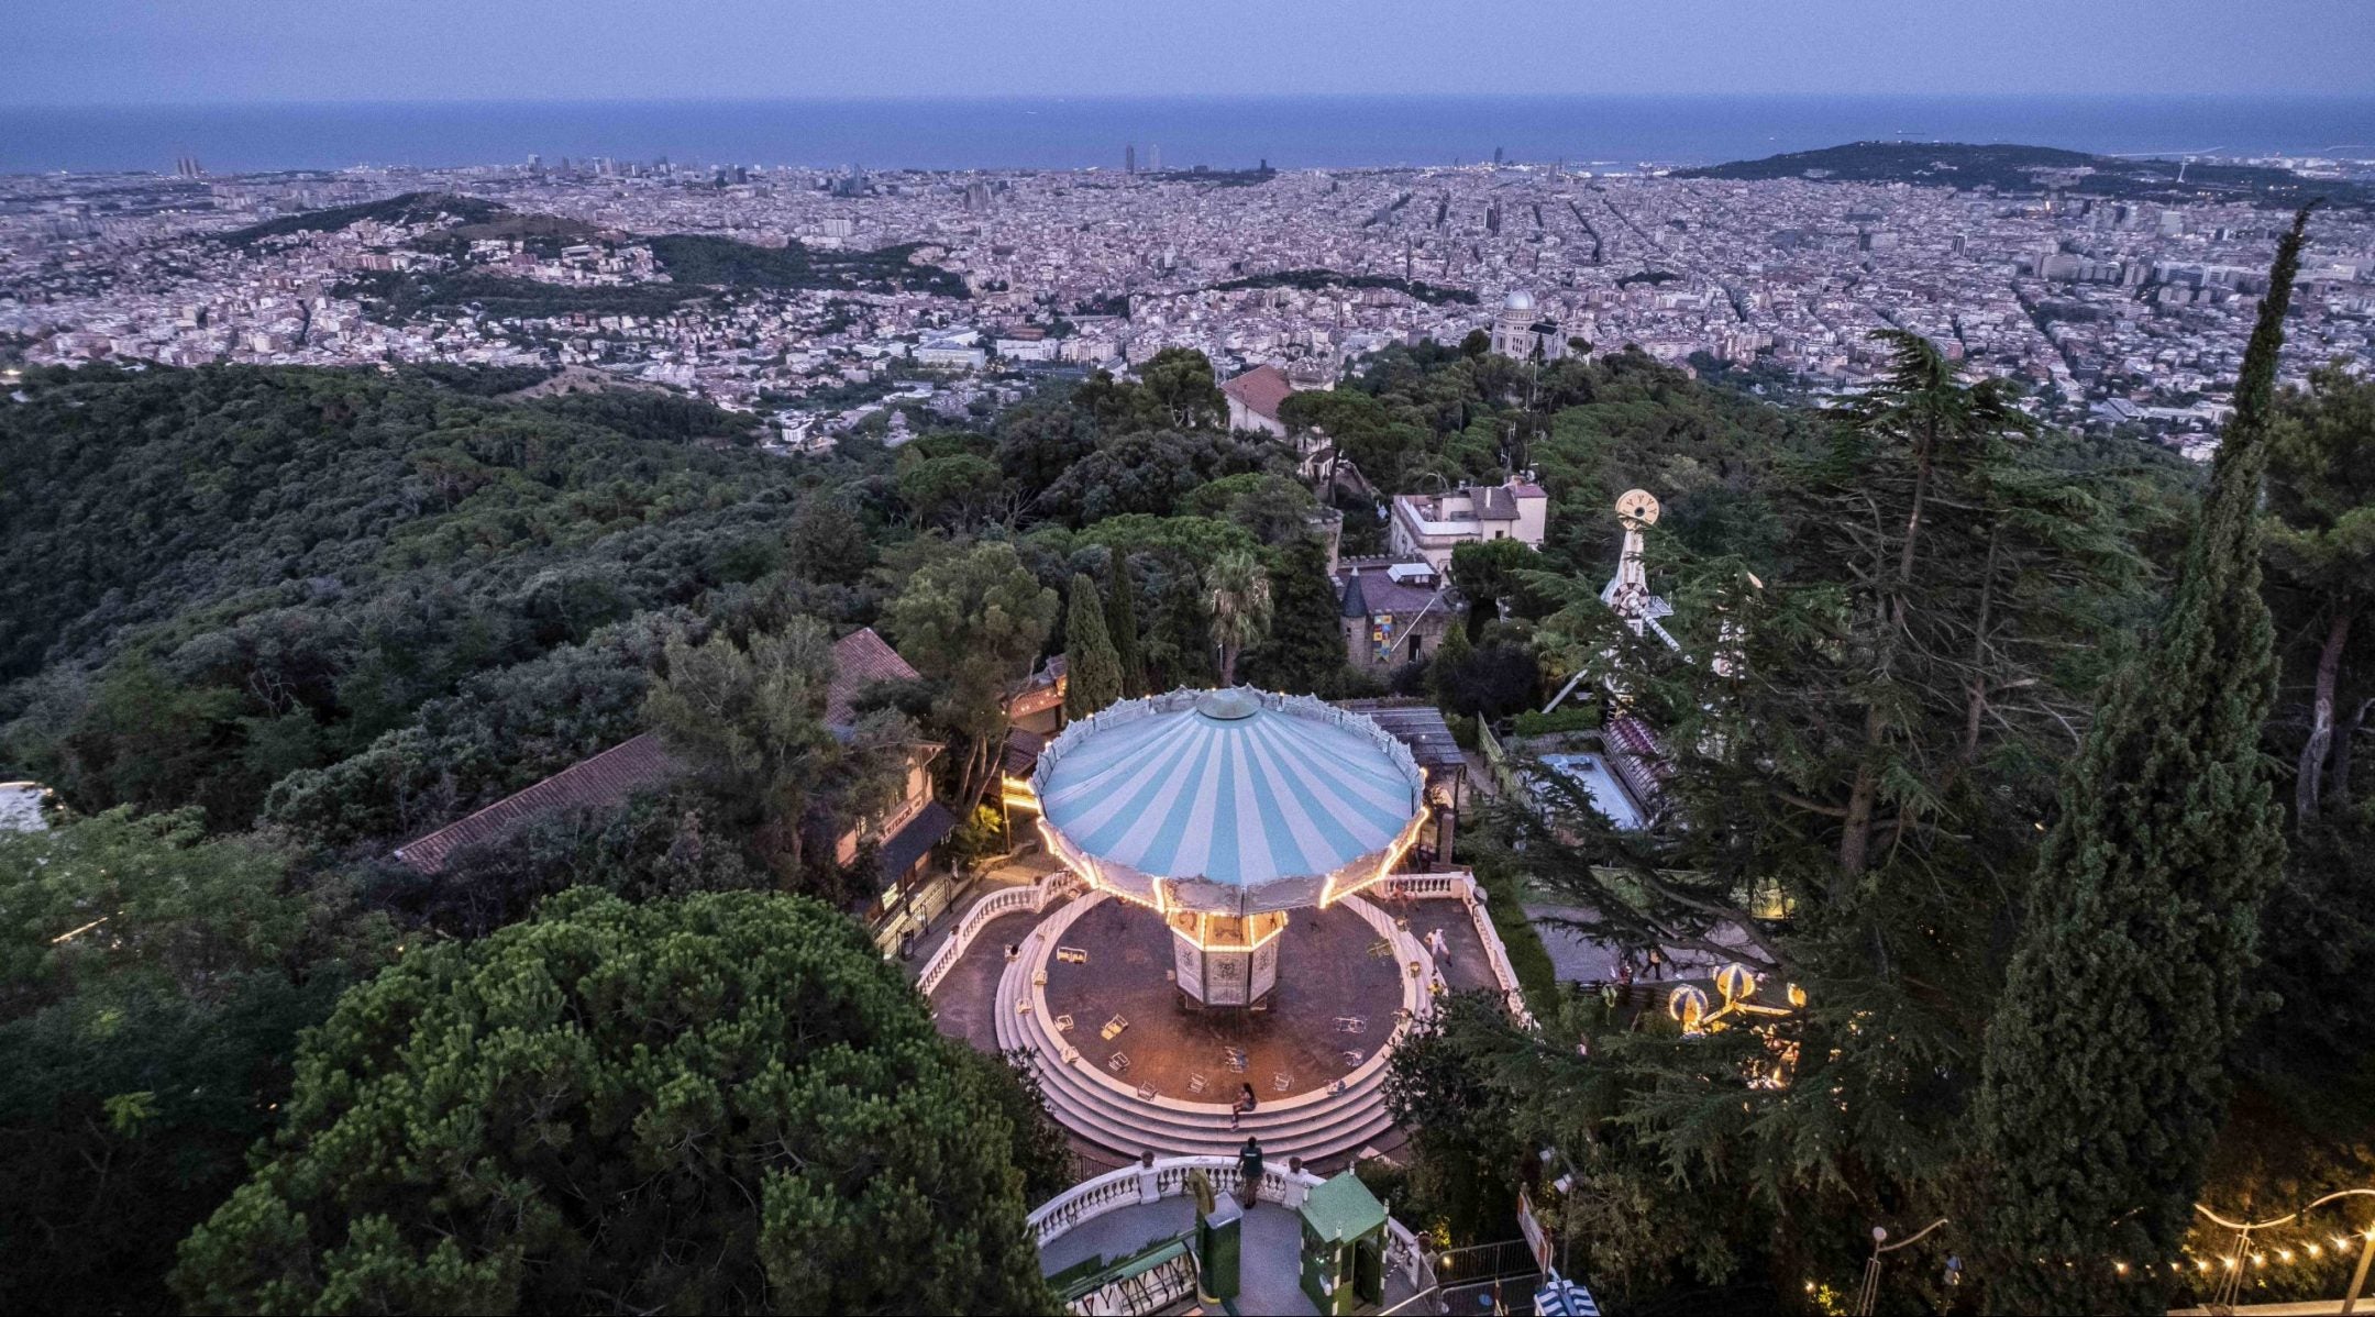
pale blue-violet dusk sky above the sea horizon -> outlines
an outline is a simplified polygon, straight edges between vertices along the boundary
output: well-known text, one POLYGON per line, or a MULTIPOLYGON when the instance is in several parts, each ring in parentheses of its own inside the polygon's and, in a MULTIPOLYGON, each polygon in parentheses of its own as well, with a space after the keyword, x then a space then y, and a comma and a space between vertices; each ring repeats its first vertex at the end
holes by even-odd
POLYGON ((2375 93, 2375 0, 7 0, 0 104, 2375 93))

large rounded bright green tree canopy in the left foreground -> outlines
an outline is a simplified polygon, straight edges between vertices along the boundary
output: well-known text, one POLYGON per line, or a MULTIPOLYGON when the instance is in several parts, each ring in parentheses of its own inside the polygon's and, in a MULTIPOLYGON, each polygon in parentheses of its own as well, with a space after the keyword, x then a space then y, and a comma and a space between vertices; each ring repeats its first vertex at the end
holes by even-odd
POLYGON ((577 892, 408 952, 183 1246, 200 1312, 1047 1310, 1014 1130, 841 914, 577 892))

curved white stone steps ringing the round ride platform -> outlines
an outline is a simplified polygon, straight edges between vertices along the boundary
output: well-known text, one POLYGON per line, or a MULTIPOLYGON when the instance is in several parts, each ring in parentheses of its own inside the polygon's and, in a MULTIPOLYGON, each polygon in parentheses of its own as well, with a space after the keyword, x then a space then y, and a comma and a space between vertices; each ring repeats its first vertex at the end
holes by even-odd
MULTIPOLYGON (((1226 1103, 1178 1101, 1161 1094, 1140 1096, 1135 1087, 1104 1075, 1078 1056, 1047 1023, 1045 987, 1033 978, 1040 963, 1038 949, 1057 944, 1064 928, 1102 899, 1109 897, 1092 892, 1050 914, 1024 942, 1024 954, 1009 961, 998 980, 998 1046, 1031 1051, 1047 1108, 1066 1130, 1130 1160, 1145 1151, 1159 1158, 1233 1156, 1247 1137, 1256 1137, 1261 1151, 1282 1165, 1285 1158, 1313 1163, 1356 1153, 1394 1127, 1394 1118, 1385 1108, 1385 1063, 1392 1039, 1347 1075, 1335 1092, 1316 1089, 1264 1101, 1235 1127, 1228 1122, 1226 1103)), ((1425 949, 1408 933, 1394 930, 1392 921, 1368 902, 1347 897, 1347 904, 1396 942, 1401 963, 1418 961, 1423 966, 1416 980, 1404 982, 1404 1001, 1423 1004, 1425 980, 1432 978, 1425 949)))

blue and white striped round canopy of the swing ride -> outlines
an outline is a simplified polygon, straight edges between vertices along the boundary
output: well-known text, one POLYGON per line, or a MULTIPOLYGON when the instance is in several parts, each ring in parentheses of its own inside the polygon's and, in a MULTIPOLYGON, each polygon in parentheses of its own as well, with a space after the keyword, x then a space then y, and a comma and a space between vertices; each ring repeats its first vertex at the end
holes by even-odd
POLYGON ((1375 721, 1252 688, 1126 700, 1040 755, 1047 840, 1159 909, 1313 906, 1378 878, 1425 823, 1425 774, 1375 721))

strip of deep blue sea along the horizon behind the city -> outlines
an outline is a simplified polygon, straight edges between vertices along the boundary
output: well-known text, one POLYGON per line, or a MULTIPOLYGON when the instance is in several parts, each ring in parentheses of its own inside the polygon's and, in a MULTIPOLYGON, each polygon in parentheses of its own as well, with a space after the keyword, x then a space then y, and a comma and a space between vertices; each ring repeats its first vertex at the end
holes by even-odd
POLYGON ((1717 164, 1857 140, 2375 159, 2375 95, 1442 95, 0 107, 0 171, 515 164, 864 168, 1717 164))

